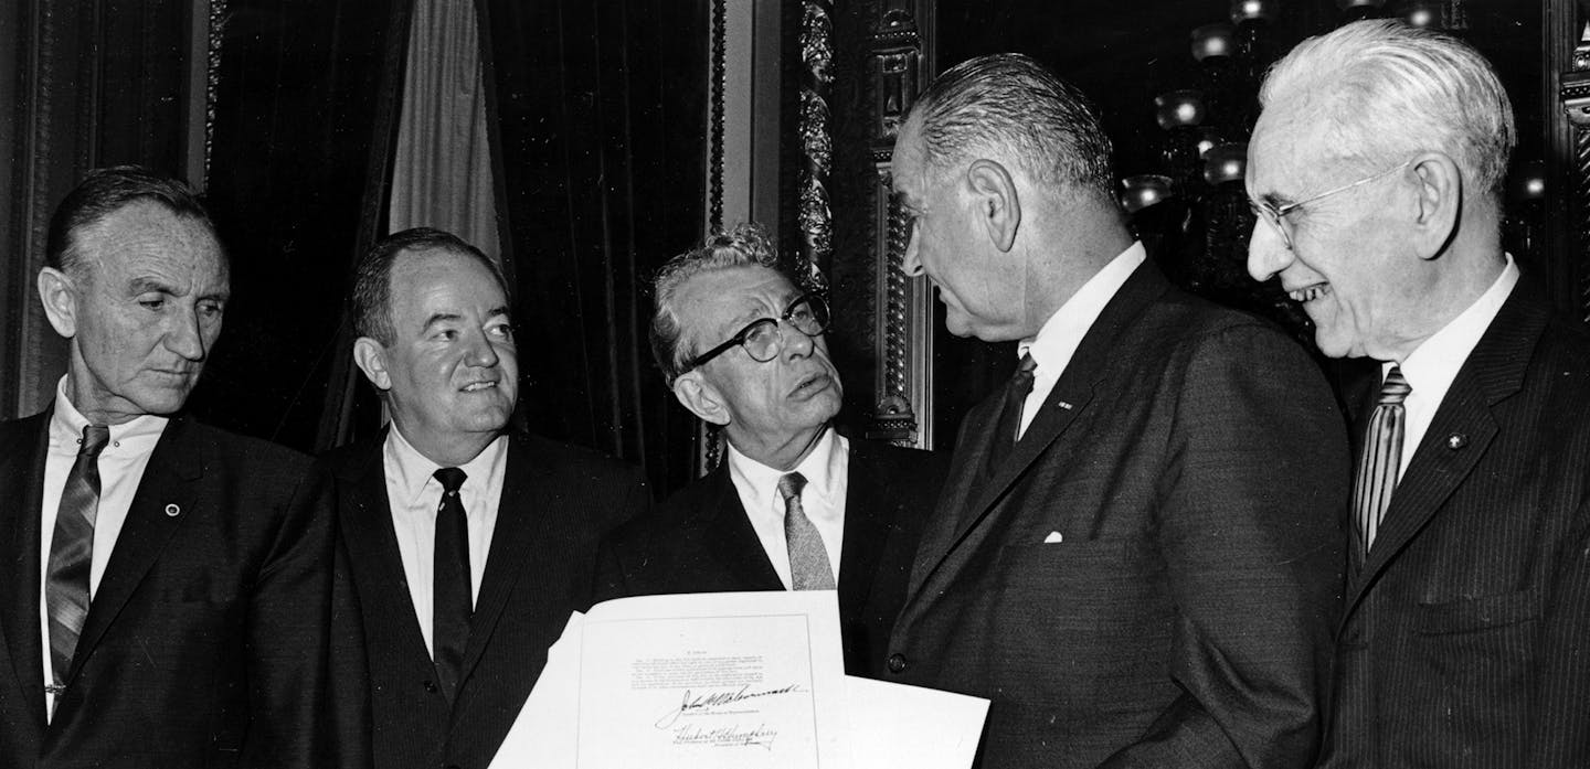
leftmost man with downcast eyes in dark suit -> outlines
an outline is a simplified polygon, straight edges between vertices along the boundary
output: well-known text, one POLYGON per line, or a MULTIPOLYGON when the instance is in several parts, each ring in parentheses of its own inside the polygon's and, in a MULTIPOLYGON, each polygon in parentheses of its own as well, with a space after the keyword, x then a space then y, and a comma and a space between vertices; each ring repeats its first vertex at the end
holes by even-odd
POLYGON ((313 766, 329 483, 181 413, 229 294, 208 214, 180 181, 99 170, 46 264, 67 375, 0 424, 0 766, 313 766))

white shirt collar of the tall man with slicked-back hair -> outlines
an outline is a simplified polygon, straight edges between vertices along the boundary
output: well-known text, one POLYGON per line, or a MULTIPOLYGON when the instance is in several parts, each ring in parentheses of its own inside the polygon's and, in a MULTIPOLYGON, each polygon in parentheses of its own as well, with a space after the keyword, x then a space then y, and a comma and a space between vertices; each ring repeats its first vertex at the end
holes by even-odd
POLYGON ((1148 251, 1143 249, 1143 243, 1134 242, 1092 278, 1088 278, 1088 283, 1083 283, 1083 288, 1076 289, 1076 294, 1043 323, 1037 337, 1021 340, 1016 357, 1032 354, 1037 369, 1032 370, 1032 392, 1022 404, 1021 427, 1016 431, 1018 440, 1027 434, 1027 426, 1038 416, 1038 408, 1048 400, 1054 383, 1061 381, 1072 356, 1076 354, 1076 346, 1083 343, 1083 337, 1088 335, 1088 329, 1092 329, 1099 313, 1145 259, 1148 259, 1148 251))

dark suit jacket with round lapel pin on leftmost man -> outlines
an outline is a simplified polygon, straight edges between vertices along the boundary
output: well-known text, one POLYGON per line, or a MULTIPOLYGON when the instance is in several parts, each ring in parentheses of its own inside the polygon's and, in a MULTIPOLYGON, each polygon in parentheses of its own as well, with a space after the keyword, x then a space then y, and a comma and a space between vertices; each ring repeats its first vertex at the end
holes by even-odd
POLYGON ((0 766, 315 764, 331 496, 296 451, 173 418, 45 725, 40 505, 49 413, 0 424, 0 766))

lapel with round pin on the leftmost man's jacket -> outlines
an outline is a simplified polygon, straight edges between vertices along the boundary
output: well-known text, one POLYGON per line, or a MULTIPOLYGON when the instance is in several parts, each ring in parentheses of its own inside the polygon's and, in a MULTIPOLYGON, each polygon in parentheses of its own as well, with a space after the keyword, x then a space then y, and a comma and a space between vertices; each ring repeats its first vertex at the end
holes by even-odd
MULTIPOLYGON (((204 478, 205 446, 200 446, 186 418, 175 416, 165 424, 161 440, 149 454, 149 464, 138 480, 138 491, 127 508, 127 521, 116 535, 110 562, 100 577, 99 591, 89 604, 83 621, 78 650, 72 655, 72 672, 76 677, 83 661, 92 655, 100 637, 127 605, 127 599, 149 574, 165 545, 192 515, 200 515, 200 480, 204 478)), ((204 510, 202 515, 218 515, 204 510)))

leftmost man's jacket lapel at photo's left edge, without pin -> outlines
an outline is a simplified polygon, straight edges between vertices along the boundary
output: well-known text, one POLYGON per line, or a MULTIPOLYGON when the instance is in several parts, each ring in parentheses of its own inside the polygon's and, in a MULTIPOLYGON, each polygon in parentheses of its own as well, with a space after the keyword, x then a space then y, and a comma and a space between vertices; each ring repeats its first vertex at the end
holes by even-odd
POLYGON ((43 639, 38 636, 40 507, 45 493, 45 458, 49 453, 49 415, 0 427, 0 564, 10 578, 0 580, 0 626, 11 672, 35 726, 45 726, 43 639))

